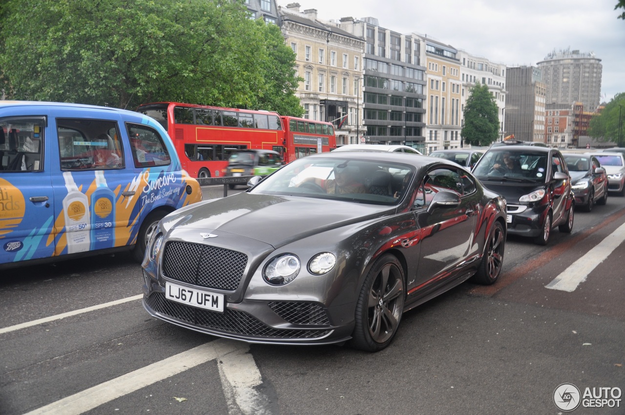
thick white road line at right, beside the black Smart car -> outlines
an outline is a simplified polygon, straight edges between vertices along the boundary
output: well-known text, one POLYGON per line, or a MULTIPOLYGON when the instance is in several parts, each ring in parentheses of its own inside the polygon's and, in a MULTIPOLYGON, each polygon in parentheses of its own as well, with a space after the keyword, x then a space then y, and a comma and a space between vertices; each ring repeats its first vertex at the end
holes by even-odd
POLYGON ((588 274, 597 265, 601 264, 623 241, 625 241, 625 224, 617 227, 616 231, 609 234, 603 241, 586 252, 586 255, 573 262, 571 266, 562 271, 559 276, 555 277, 545 287, 567 292, 575 291, 579 284, 586 281, 588 274))

